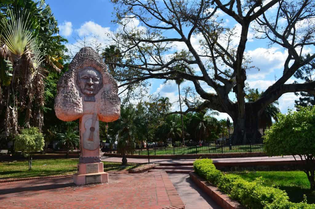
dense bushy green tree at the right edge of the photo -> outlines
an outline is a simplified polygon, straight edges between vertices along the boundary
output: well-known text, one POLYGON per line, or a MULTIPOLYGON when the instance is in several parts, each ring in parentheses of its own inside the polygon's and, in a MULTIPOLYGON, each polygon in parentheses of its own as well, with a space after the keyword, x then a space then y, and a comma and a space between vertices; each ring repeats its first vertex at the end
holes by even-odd
POLYGON ((278 122, 266 131, 264 146, 269 156, 293 155, 295 158, 298 155, 314 191, 315 106, 298 108, 298 112, 289 110, 287 115, 278 114, 278 122))

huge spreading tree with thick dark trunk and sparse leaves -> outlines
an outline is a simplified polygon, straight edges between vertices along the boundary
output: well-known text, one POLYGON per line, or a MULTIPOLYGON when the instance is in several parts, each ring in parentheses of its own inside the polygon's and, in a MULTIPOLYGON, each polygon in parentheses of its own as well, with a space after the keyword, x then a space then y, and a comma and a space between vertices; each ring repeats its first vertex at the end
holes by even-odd
POLYGON ((117 11, 114 22, 123 26, 113 37, 121 52, 121 59, 115 63, 124 75, 119 79, 120 86, 150 78, 191 81, 202 103, 187 99, 186 112, 211 108, 227 113, 233 119, 233 143, 259 138, 261 114, 284 93, 315 93, 315 81, 286 84, 315 57, 303 53, 305 47, 314 45, 312 0, 112 2, 117 11), (235 37, 235 28, 225 26, 218 18, 222 12, 240 26, 239 36, 235 37), (136 19, 140 27, 132 27, 136 19), (253 102, 245 100, 244 90, 246 71, 253 68, 245 52, 249 29, 255 31, 256 38, 287 52, 282 76, 253 102), (193 44, 196 37, 201 37, 197 47, 193 44), (174 54, 174 44, 185 45, 187 50, 174 54), (236 102, 229 98, 230 92, 235 93, 236 102))

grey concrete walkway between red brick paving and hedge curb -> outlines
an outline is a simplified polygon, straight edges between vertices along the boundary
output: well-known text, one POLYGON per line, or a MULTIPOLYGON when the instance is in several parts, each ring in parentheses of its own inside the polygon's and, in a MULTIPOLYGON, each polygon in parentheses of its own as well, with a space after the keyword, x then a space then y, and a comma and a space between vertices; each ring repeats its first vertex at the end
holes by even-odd
POLYGON ((169 174, 169 179, 173 183, 185 204, 185 209, 220 209, 206 193, 204 193, 192 180, 188 174, 169 174))

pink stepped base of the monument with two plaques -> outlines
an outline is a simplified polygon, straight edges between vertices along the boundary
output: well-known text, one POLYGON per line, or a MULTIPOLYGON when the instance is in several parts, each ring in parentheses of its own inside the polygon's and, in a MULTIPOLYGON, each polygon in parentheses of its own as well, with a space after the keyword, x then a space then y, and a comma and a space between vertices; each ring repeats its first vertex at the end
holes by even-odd
POLYGON ((73 175, 76 185, 107 183, 108 173, 104 172, 103 163, 79 163, 78 172, 73 175))

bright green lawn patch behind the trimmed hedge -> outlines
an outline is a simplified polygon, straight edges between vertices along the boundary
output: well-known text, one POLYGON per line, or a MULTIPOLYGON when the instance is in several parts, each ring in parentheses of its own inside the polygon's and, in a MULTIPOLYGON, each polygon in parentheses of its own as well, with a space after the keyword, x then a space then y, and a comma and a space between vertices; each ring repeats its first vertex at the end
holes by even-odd
POLYGON ((310 183, 303 171, 250 171, 234 174, 247 181, 262 176, 266 186, 285 190, 291 202, 301 202, 303 194, 306 194, 307 203, 315 203, 315 192, 310 191, 310 183))

